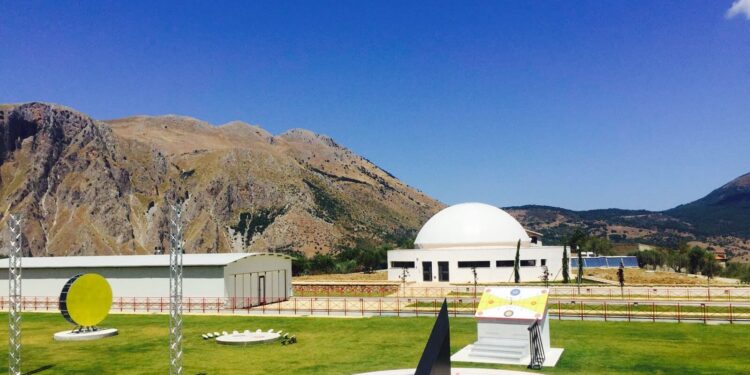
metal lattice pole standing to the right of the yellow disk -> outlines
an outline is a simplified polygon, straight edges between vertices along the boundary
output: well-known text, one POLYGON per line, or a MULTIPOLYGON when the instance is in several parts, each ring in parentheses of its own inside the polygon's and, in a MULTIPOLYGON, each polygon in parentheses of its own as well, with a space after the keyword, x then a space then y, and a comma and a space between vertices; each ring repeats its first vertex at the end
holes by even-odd
POLYGON ((172 205, 169 250, 169 374, 182 375, 182 212, 184 204, 172 205))

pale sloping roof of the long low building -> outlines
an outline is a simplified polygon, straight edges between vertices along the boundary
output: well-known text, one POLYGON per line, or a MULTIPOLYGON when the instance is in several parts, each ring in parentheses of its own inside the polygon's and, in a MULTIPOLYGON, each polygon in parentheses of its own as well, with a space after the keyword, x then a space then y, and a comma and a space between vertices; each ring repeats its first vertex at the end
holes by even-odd
MULTIPOLYGON (((276 256, 278 253, 184 254, 183 267, 226 266, 240 259, 254 256, 276 256)), ((169 255, 99 255, 68 257, 24 257, 23 268, 91 268, 91 267, 168 267, 169 255)), ((8 259, 0 259, 0 268, 8 267, 8 259)))

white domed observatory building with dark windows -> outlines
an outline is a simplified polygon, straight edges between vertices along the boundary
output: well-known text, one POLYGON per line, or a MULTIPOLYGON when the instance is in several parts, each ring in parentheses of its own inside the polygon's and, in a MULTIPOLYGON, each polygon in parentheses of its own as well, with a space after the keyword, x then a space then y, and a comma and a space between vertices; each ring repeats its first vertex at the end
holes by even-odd
POLYGON ((417 234, 415 249, 388 252, 388 280, 473 283, 513 282, 521 241, 521 281, 562 278, 562 246, 542 246, 539 233, 525 230, 507 212, 483 203, 462 203, 435 214, 417 234))

